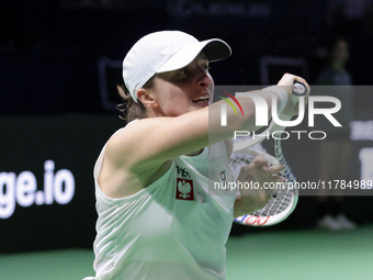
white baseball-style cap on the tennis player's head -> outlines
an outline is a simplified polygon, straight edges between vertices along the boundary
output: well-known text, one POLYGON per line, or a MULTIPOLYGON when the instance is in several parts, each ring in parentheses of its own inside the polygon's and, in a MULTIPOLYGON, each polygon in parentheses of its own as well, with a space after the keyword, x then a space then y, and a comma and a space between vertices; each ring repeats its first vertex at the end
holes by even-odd
POLYGON ((228 44, 219 38, 200 42, 181 31, 160 31, 142 37, 123 60, 123 80, 132 98, 137 102, 137 90, 156 72, 185 67, 202 49, 210 61, 231 54, 228 44))

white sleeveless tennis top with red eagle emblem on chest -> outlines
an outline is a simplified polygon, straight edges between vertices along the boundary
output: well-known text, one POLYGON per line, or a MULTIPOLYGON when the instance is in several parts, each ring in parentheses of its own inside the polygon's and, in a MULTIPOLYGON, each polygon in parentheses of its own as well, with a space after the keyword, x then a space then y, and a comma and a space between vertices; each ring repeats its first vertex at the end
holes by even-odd
POLYGON ((233 180, 224 143, 173 159, 157 181, 122 199, 108 198, 97 182, 104 150, 94 166, 95 277, 84 279, 225 279, 236 192, 214 190, 233 180))

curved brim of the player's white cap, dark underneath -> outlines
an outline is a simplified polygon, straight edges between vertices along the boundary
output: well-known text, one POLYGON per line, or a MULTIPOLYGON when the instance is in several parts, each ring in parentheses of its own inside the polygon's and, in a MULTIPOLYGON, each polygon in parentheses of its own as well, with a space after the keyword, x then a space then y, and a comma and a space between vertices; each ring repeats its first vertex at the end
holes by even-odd
POLYGON ((227 43, 219 38, 212 38, 188 45, 168 59, 156 72, 177 70, 189 65, 201 53, 204 52, 210 61, 226 59, 231 49, 227 43))

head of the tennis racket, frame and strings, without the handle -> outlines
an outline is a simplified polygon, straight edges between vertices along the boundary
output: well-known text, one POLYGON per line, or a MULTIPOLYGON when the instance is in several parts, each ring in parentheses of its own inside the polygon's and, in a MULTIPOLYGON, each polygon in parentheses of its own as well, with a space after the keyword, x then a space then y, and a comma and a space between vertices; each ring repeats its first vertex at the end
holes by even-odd
MULTIPOLYGON (((275 157, 260 150, 247 148, 241 153, 233 153, 230 157, 229 166, 235 178, 238 177, 240 169, 244 166, 249 165, 251 160, 259 155, 263 156, 272 166, 280 165, 275 157)), ((284 177, 282 172, 278 175, 284 177)), ((284 179, 286 178, 284 177, 284 179)), ((294 211, 297 199, 297 189, 283 184, 283 188, 273 191, 271 199, 263 209, 238 216, 234 222, 250 226, 269 226, 278 224, 284 221, 294 211)))

